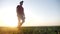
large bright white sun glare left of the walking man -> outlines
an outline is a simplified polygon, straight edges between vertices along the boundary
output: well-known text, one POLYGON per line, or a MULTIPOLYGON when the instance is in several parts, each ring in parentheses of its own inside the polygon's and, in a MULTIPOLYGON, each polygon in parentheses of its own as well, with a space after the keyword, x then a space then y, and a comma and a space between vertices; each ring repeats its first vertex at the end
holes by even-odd
POLYGON ((4 27, 17 27, 18 21, 17 21, 15 9, 10 7, 8 9, 3 8, 0 14, 2 14, 0 16, 4 23, 4 25, 2 24, 4 27))

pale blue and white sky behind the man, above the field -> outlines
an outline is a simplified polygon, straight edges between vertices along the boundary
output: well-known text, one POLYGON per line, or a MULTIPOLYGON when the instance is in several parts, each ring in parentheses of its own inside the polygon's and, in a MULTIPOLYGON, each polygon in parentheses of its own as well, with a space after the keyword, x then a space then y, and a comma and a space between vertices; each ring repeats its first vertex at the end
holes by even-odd
MULTIPOLYGON (((16 7, 21 0, 0 0, 0 26, 17 26, 16 7)), ((22 26, 60 26, 60 0, 23 0, 22 26)))

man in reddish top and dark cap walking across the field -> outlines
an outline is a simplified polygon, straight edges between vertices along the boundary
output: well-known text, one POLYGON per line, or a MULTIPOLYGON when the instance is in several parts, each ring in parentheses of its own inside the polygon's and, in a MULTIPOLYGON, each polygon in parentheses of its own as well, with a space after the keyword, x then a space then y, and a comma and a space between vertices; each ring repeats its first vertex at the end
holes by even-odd
POLYGON ((22 7, 22 5, 23 1, 21 1, 20 5, 17 6, 18 26, 22 25, 25 22, 24 8, 22 7))

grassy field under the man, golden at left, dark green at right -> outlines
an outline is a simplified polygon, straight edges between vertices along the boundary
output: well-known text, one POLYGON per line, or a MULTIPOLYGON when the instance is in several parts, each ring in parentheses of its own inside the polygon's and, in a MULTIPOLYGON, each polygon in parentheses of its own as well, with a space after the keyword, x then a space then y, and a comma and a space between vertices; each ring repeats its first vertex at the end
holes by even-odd
POLYGON ((21 27, 20 31, 17 28, 0 27, 0 34, 60 34, 60 26, 21 27))

